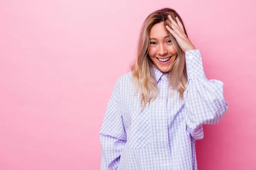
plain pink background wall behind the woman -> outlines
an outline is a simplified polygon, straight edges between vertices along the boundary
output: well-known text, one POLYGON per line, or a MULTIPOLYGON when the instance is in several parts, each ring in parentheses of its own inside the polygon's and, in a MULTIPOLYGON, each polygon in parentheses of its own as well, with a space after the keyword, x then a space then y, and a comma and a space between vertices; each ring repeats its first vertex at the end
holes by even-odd
POLYGON ((228 112, 204 125, 199 170, 256 169, 254 0, 1 0, 0 170, 97 170, 99 130, 140 26, 174 8, 228 112))

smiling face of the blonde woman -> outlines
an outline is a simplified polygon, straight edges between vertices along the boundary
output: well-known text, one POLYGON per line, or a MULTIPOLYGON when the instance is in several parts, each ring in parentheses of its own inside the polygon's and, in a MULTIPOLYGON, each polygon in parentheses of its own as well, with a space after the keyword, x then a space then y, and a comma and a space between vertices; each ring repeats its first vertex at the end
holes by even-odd
POLYGON ((149 57, 163 74, 168 73, 177 57, 177 52, 163 22, 157 23, 151 28, 149 42, 149 57))

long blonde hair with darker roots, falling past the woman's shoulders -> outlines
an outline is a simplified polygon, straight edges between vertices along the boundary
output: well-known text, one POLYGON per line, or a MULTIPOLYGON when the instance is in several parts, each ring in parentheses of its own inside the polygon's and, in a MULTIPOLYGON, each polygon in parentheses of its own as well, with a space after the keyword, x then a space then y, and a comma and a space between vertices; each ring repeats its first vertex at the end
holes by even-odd
MULTIPOLYGON (((184 23, 180 15, 172 8, 162 8, 157 11, 152 12, 145 19, 141 30, 140 36, 137 44, 137 57, 133 65, 131 65, 132 79, 136 87, 136 93, 140 90, 141 105, 143 105, 142 110, 145 108, 145 105, 148 103, 150 105, 151 99, 156 99, 157 97, 157 83, 154 76, 154 71, 152 70, 153 62, 148 56, 149 49, 149 34, 152 26, 157 23, 164 22, 164 26, 170 24, 168 15, 176 21, 175 17, 178 17, 180 22, 183 25, 184 32, 187 35, 184 23)), ((176 21, 177 22, 177 21, 176 21)), ((168 31, 169 32, 169 31, 168 31)), ((171 70, 168 73, 168 82, 169 85, 178 91, 180 94, 180 100, 183 99, 183 93, 186 90, 187 83, 187 73, 186 73, 186 61, 185 53, 182 51, 178 45, 175 37, 169 33, 174 48, 177 52, 177 58, 175 59, 171 70), (170 78, 171 77, 171 78, 170 78)))

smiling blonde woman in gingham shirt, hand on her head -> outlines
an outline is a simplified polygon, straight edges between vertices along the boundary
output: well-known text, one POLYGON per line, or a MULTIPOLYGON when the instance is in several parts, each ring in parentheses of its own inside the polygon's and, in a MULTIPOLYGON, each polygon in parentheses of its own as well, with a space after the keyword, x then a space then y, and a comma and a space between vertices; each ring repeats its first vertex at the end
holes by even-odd
POLYGON ((101 170, 196 170, 203 124, 227 111, 223 83, 208 80, 201 54, 171 8, 143 23, 131 72, 117 80, 99 133, 101 170))

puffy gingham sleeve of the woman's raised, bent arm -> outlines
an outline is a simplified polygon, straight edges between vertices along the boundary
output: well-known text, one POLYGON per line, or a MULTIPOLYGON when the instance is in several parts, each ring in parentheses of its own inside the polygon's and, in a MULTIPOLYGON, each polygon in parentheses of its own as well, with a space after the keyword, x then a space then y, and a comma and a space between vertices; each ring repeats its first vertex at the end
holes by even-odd
POLYGON ((185 58, 188 75, 183 94, 186 125, 191 136, 203 139, 202 125, 218 123, 228 109, 223 96, 223 82, 206 78, 199 50, 187 51, 185 58))

